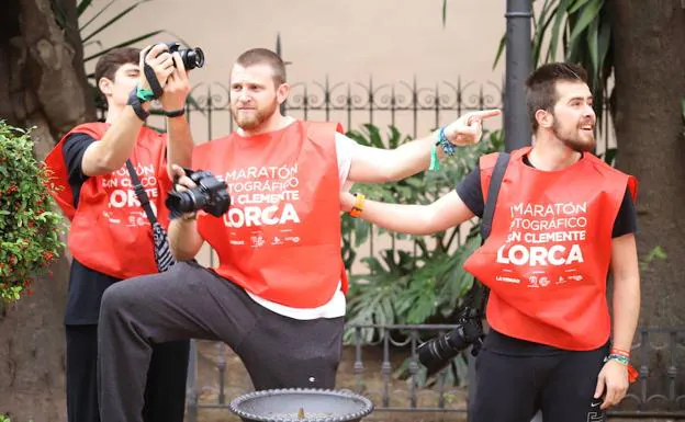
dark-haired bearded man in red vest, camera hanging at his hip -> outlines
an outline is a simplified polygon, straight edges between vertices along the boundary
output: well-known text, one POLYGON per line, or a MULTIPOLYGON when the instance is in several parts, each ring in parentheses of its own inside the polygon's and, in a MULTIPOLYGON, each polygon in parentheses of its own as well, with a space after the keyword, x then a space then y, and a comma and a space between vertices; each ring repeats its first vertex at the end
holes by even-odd
MULTIPOLYGON (((636 181, 592 153, 596 117, 581 67, 537 69, 527 103, 534 146, 512 152, 491 233, 464 264, 490 287, 470 420, 528 422, 541 410, 546 421, 600 421, 626 395, 640 309, 636 181)), ((360 217, 412 235, 483 217, 496 159, 481 157, 434 204, 366 201, 360 217)), ((356 201, 341 194, 344 209, 356 201)))

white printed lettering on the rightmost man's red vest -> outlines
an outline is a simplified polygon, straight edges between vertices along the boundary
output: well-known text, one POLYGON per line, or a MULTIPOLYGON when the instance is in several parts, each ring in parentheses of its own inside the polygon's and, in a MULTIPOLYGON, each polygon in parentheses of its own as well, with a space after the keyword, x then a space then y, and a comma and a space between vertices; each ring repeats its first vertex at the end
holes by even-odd
POLYGON ((561 266, 584 262, 580 244, 568 243, 586 239, 586 203, 513 205, 509 232, 506 243, 497 249, 497 263, 561 266))

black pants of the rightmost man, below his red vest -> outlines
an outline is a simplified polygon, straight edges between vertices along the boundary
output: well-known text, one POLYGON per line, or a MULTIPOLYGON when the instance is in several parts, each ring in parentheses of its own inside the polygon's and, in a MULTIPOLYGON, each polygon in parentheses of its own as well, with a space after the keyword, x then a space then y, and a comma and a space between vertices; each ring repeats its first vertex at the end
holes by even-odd
POLYGON ((498 354, 484 347, 475 361, 478 388, 471 422, 530 422, 538 410, 550 422, 605 421, 594 399, 607 346, 549 356, 498 354))

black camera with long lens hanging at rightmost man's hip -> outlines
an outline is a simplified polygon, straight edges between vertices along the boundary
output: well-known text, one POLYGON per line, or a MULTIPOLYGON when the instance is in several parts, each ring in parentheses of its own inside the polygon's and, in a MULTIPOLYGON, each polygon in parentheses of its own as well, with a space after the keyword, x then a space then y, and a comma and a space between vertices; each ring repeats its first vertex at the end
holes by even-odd
POLYGON ((483 343, 483 324, 476 312, 470 310, 459 319, 458 327, 447 334, 430 339, 418 346, 418 360, 428 369, 428 376, 447 366, 462 350, 473 344, 474 356, 483 343))

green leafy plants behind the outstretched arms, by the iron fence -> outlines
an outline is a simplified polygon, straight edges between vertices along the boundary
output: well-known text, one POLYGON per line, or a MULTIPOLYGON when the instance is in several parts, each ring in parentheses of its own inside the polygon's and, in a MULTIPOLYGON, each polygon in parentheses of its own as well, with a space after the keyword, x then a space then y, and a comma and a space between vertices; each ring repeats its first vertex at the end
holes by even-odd
MULTIPOLYGON (((408 141, 395 127, 390 127, 385 139, 373 125, 348 136, 357 142, 377 148, 396 148, 408 141)), ((371 199, 398 204, 430 204, 454 189, 475 166, 479 157, 504 146, 502 132, 486 133, 481 142, 458 149, 458 153, 443 159, 438 171, 426 171, 405 180, 384 184, 357 184, 371 199)), ((368 223, 343 216, 343 256, 346 267, 357 258, 357 249, 373 236, 383 232, 368 223)), ((480 246, 478 226, 465 241, 460 241, 459 227, 430 236, 389 235, 395 239, 412 239, 414 251, 395 248, 364 256, 362 274, 350 276, 347 322, 350 326, 416 324, 452 322, 460 299, 471 288, 473 277, 462 270, 464 260, 480 246)), ((362 341, 378 340, 380 331, 361 330, 362 341)), ((345 334, 350 343, 353 329, 345 334)))

